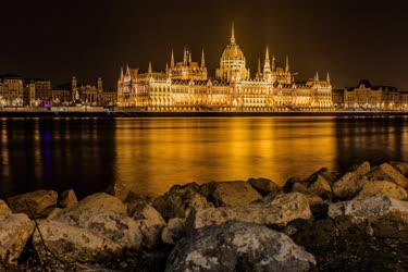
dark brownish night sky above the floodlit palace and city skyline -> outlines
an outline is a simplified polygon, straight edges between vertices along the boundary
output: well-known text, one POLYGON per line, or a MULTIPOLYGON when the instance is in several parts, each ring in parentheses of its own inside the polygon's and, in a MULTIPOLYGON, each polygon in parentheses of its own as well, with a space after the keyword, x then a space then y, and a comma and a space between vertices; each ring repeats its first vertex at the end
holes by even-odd
POLYGON ((408 89, 408 18, 403 1, 4 1, 0 73, 47 77, 103 76, 115 86, 121 65, 163 70, 201 47, 211 75, 235 22, 254 73, 268 44, 280 63, 289 54, 297 78, 330 71, 335 88, 360 78, 408 89), (358 2, 358 3, 356 3, 358 2))

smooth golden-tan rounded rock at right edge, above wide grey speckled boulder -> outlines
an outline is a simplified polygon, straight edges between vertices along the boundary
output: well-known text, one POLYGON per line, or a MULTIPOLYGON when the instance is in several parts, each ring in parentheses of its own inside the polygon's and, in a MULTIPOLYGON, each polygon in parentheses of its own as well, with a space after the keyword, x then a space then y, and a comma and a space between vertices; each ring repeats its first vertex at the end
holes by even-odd
POLYGON ((408 194, 403 187, 392 182, 380 181, 366 183, 355 199, 374 196, 387 196, 399 200, 408 198, 408 194))

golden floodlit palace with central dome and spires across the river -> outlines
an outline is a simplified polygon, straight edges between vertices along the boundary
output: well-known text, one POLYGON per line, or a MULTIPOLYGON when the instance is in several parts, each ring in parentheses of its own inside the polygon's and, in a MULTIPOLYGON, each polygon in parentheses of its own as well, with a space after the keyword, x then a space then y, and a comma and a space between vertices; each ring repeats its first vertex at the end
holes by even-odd
POLYGON ((208 75, 203 51, 200 62, 193 61, 187 49, 183 61, 175 62, 172 51, 164 72, 154 72, 151 63, 146 73, 121 69, 118 106, 147 111, 277 111, 331 110, 333 102, 329 74, 325 79, 317 73, 295 82, 288 59, 284 67, 275 66, 268 47, 263 67, 259 62, 251 77, 233 26, 214 78, 208 75))

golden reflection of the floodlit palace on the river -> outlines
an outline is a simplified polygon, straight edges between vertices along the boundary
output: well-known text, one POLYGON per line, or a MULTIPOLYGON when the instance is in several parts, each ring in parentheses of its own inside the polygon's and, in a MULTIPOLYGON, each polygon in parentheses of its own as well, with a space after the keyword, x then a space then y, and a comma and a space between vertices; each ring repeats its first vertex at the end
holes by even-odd
POLYGON ((335 145, 332 119, 121 120, 115 129, 120 181, 153 195, 180 183, 252 176, 283 184, 334 168, 335 145))

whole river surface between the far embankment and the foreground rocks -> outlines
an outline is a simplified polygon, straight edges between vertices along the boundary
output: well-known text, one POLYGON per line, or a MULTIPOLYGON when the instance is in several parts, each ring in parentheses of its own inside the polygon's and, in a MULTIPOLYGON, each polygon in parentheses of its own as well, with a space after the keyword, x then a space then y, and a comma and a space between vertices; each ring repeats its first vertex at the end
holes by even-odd
POLYGON ((113 181, 144 195, 174 184, 269 177, 405 160, 405 119, 147 118, 0 120, 0 198, 38 188, 79 196, 113 181))

